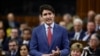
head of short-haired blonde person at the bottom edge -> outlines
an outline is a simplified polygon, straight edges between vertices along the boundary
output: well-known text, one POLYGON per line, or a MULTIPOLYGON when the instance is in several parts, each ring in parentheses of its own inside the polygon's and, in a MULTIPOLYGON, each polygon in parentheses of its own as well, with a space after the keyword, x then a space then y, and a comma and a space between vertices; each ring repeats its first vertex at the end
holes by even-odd
POLYGON ((81 43, 74 43, 71 46, 70 56, 81 56, 83 45, 81 43))

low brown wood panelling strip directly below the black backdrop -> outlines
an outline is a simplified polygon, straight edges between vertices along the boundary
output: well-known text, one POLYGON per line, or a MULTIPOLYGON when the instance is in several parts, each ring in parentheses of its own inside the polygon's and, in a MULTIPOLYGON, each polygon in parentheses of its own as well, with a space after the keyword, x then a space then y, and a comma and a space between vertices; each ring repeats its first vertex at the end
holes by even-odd
MULTIPOLYGON (((6 19, 6 16, 0 16, 0 19, 6 19)), ((29 26, 35 27, 39 25, 39 18, 38 16, 15 16, 16 21, 18 22, 26 22, 29 26)), ((59 23, 62 20, 61 16, 55 17, 55 22, 59 23)))

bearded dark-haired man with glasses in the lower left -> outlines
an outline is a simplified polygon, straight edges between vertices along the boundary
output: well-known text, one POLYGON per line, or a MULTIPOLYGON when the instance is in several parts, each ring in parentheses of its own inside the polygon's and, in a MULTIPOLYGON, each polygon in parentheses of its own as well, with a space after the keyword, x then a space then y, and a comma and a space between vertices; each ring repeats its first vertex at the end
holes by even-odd
POLYGON ((19 56, 18 42, 16 40, 10 40, 8 43, 9 50, 6 52, 6 56, 19 56))

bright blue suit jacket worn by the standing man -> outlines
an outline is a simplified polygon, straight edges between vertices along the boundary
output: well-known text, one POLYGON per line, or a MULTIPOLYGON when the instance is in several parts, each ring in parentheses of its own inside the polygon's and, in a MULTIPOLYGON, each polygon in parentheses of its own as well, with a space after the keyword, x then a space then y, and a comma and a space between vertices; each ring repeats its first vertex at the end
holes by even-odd
POLYGON ((69 40, 66 29, 54 24, 53 37, 51 46, 48 45, 45 26, 41 25, 33 30, 30 41, 30 55, 41 56, 42 54, 50 54, 52 50, 56 50, 56 46, 61 50, 61 56, 69 54, 69 40))

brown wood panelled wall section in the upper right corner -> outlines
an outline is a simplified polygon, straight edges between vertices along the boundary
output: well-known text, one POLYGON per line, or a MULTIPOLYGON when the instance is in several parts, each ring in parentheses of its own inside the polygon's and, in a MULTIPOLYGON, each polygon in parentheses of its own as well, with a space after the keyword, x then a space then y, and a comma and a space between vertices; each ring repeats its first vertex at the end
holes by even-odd
POLYGON ((86 17, 89 10, 100 13, 100 0, 77 0, 76 4, 76 13, 81 18, 86 17))

